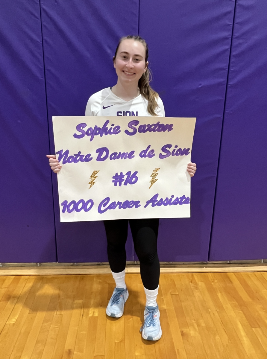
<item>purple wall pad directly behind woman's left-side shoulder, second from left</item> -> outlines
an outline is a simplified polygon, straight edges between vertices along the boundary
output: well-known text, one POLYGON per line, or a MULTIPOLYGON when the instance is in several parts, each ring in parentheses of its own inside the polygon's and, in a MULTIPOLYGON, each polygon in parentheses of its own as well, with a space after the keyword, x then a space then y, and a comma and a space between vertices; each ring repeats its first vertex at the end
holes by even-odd
MULTIPOLYGON (((84 116, 88 98, 116 83, 112 57, 121 36, 138 33, 138 0, 41 0, 51 151, 52 116, 84 116)), ((60 223, 53 177, 59 262, 107 261, 102 222, 60 223)), ((133 242, 126 243, 133 260, 133 242)))

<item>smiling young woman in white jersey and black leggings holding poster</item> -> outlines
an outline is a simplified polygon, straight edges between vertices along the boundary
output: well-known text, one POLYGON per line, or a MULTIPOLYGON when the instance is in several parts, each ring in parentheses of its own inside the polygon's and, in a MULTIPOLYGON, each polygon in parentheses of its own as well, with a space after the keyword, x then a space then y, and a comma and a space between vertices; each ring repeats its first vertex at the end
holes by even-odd
MULTIPOLYGON (((117 84, 93 94, 86 106, 86 116, 165 116, 163 103, 149 85, 148 47, 139 36, 120 39, 113 57, 118 75, 117 84)), ((55 155, 47 155, 51 169, 59 172, 61 164, 55 155)), ((189 163, 187 171, 194 176, 195 163, 189 163)), ((142 337, 158 340, 161 337, 160 311, 156 302, 160 279, 160 262, 157 255, 159 219, 120 219, 104 221, 107 235, 107 253, 115 289, 107 305, 106 314, 119 318, 129 293, 125 284, 128 221, 133 235, 134 249, 140 261, 141 279, 146 293, 142 337)))

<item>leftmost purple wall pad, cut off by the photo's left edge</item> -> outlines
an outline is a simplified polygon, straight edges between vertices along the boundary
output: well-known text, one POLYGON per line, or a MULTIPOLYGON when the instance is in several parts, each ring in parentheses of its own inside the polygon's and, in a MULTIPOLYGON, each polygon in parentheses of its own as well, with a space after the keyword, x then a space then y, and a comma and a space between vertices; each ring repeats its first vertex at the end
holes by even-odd
POLYGON ((55 262, 39 1, 2 1, 0 18, 0 262, 55 262))

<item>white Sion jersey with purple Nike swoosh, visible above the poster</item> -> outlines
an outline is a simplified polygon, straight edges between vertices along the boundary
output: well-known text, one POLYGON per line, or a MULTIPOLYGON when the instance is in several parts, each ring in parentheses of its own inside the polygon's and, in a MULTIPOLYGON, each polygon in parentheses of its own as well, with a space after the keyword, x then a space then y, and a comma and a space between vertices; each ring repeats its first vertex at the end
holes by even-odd
MULTIPOLYGON (((148 101, 141 94, 130 101, 124 101, 107 87, 89 98, 85 116, 151 116, 147 112, 147 104, 148 101)), ((165 117, 160 97, 157 98, 157 104, 155 109, 157 116, 165 117)))

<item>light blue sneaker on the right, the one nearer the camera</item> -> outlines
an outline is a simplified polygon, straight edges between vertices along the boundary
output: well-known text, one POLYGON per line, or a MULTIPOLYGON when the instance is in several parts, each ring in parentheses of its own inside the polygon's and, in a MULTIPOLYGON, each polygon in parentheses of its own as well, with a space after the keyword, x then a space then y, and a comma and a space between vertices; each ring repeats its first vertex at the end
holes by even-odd
POLYGON ((145 307, 144 322, 140 328, 142 337, 146 340, 158 340, 162 335, 160 326, 160 311, 156 307, 145 307))

